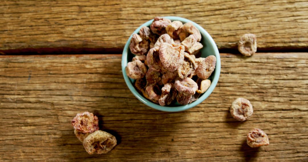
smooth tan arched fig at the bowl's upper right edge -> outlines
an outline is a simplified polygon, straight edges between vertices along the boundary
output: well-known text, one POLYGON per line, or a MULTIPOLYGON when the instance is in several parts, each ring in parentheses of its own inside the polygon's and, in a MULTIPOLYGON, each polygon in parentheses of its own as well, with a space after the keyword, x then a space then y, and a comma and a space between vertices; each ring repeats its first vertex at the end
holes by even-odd
POLYGON ((193 25, 193 23, 187 22, 184 24, 181 33, 179 34, 180 40, 183 41, 191 34, 194 34, 196 36, 198 42, 201 41, 201 33, 199 29, 195 25, 193 25))

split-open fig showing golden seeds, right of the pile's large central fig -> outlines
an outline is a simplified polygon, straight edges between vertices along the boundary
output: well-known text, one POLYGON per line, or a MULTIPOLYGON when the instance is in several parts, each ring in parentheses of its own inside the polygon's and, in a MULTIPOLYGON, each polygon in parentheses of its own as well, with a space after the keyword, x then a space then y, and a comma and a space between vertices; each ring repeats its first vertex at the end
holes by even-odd
POLYGON ((183 79, 185 77, 191 77, 195 74, 196 64, 195 60, 186 52, 184 52, 184 61, 177 69, 178 76, 183 79))

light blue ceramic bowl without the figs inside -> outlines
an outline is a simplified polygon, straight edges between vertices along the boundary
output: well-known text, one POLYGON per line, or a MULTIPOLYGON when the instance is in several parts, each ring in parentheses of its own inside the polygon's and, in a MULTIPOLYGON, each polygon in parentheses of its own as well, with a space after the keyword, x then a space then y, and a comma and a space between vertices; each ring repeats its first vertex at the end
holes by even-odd
POLYGON ((196 101, 188 104, 188 105, 180 105, 177 102, 173 103, 171 105, 168 106, 160 106, 156 103, 151 102, 150 100, 148 100, 147 98, 144 98, 143 95, 139 94, 138 91, 135 89, 134 87, 134 83, 135 80, 134 79, 130 79, 125 72, 125 67, 127 66, 127 63, 130 62, 132 60, 132 58, 135 56, 134 54, 132 54, 130 52, 129 49, 129 44, 131 42, 132 39, 132 35, 135 33, 139 33, 139 30, 141 27, 143 26, 148 26, 150 27, 152 20, 142 24, 141 26, 139 26, 138 29, 136 29, 134 31, 134 33, 132 33, 132 35, 128 38, 127 43, 125 44, 123 53, 122 53, 122 72, 123 72, 123 76, 124 76, 124 80, 129 88, 129 90, 132 91, 132 93, 144 104, 146 104, 147 106, 150 106, 156 110, 160 110, 160 111, 167 111, 167 112, 177 112, 177 111, 183 111, 183 110, 187 110, 190 109, 196 105, 198 105, 199 103, 201 103, 203 100, 205 100, 205 98, 207 98, 214 90, 214 88, 216 87, 216 84, 218 82, 218 78, 220 75, 220 56, 219 56, 219 52, 218 52, 218 48, 213 40, 213 38, 209 35, 209 33, 207 31, 205 31, 205 29, 203 29, 200 25, 196 24, 193 21, 190 21, 188 19, 182 18, 182 17, 175 17, 175 16, 166 16, 165 18, 170 19, 171 21, 181 21, 184 23, 186 22, 192 22, 199 30, 200 33, 202 35, 202 39, 201 42, 203 44, 203 48, 201 49, 201 57, 207 57, 209 55, 214 55, 216 56, 216 68, 214 70, 214 72, 212 73, 212 75, 209 77, 209 79, 211 80, 211 86, 209 87, 209 89, 200 95, 199 99, 197 99, 196 101))

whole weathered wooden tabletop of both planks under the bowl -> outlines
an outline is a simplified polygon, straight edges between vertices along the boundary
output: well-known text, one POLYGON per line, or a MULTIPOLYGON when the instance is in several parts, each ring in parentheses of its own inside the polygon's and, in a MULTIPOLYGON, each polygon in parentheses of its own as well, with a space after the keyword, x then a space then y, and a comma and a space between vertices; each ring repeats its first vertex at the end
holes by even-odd
POLYGON ((307 52, 305 1, 2 1, 0 161, 308 161, 307 52), (213 93, 178 113, 145 106, 121 71, 129 35, 170 15, 199 23, 221 51, 213 93), (236 50, 243 33, 258 37, 251 57, 236 50), (254 107, 246 122, 229 113, 237 97, 254 107), (85 152, 70 124, 83 111, 115 149, 85 152), (269 146, 245 144, 253 128, 269 146))

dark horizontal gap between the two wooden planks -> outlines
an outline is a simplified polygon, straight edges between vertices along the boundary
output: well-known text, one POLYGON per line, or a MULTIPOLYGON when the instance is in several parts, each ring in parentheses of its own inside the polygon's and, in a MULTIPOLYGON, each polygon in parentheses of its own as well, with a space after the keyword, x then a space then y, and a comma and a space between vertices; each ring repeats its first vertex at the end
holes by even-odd
MULTIPOLYGON (((257 48, 257 52, 307 52, 306 48, 257 48)), ((1 55, 59 55, 59 54, 120 54, 123 48, 24 48, 0 50, 1 55)), ((221 48, 220 53, 239 54, 236 48, 221 48)))

